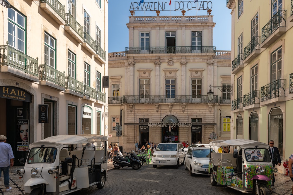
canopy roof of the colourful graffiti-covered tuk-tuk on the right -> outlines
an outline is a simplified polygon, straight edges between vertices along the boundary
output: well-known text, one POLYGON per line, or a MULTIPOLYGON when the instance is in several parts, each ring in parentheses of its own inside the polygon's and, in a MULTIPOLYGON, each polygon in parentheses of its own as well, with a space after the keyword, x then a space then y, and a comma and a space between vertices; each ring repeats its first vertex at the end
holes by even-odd
POLYGON ((229 139, 229 140, 217 140, 209 142, 210 146, 240 146, 241 148, 269 148, 268 144, 250 140, 250 139, 229 139))

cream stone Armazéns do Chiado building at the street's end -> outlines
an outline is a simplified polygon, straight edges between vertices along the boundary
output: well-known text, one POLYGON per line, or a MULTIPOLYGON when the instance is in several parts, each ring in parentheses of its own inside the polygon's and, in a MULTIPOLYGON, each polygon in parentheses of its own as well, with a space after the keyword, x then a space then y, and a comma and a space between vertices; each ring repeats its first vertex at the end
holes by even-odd
POLYGON ((230 51, 213 45, 212 15, 130 16, 129 46, 109 53, 109 143, 230 138, 230 51), (225 88, 226 89, 226 88, 225 88), (116 125, 122 136, 116 136, 116 125))

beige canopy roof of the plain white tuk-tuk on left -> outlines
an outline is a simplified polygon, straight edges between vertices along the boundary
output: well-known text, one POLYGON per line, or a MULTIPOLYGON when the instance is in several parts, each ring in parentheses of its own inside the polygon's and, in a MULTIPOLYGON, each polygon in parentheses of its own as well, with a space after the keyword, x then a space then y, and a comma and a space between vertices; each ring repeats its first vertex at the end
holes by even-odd
POLYGON ((61 147, 62 145, 69 144, 86 144, 86 143, 95 143, 108 141, 108 138, 103 135, 55 135, 52 137, 47 137, 40 141, 36 141, 30 144, 29 148, 40 147, 45 145, 45 147, 61 147))

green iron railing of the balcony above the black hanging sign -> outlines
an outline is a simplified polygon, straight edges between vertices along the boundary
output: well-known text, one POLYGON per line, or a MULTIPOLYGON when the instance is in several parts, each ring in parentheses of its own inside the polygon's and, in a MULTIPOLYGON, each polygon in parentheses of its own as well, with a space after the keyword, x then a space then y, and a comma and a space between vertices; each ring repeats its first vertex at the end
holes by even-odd
POLYGON ((40 64, 40 80, 50 81, 54 84, 65 87, 64 73, 61 73, 47 64, 40 64))

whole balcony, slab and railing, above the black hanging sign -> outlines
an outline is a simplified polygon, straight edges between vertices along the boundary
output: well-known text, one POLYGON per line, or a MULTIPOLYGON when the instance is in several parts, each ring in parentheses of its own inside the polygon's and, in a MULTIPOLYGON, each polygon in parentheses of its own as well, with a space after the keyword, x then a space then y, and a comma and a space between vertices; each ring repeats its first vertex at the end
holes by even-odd
POLYGON ((65 90, 64 73, 52 68, 47 64, 40 65, 40 84, 53 87, 59 91, 65 90))

